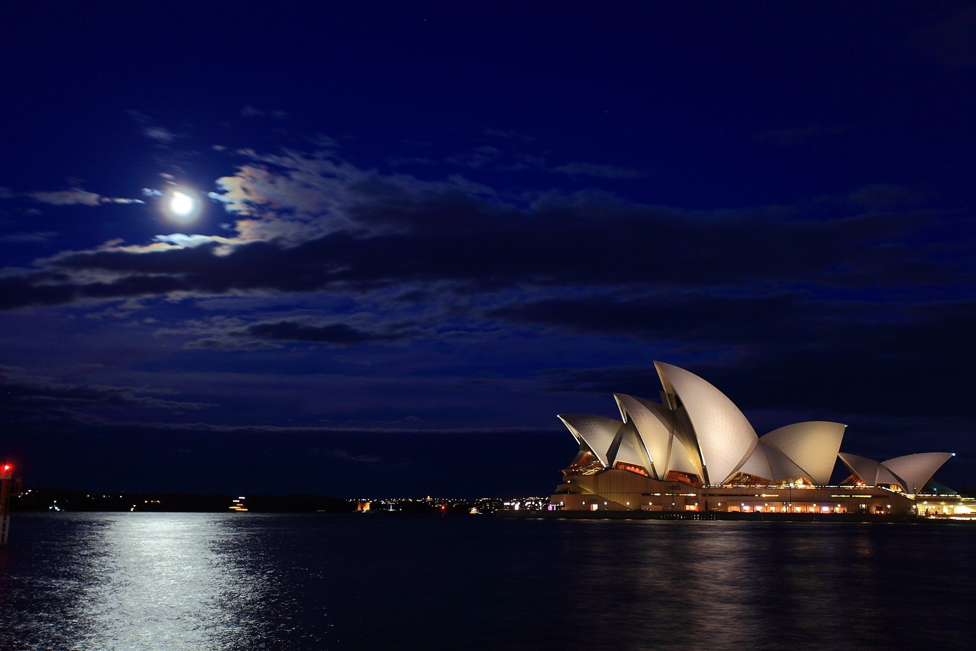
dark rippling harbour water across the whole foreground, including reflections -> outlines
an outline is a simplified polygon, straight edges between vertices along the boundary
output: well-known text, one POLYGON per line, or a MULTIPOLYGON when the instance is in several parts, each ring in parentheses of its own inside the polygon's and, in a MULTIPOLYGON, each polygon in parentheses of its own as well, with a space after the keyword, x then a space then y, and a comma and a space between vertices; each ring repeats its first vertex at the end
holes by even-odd
POLYGON ((976 527, 16 513, 0 649, 970 649, 976 527))

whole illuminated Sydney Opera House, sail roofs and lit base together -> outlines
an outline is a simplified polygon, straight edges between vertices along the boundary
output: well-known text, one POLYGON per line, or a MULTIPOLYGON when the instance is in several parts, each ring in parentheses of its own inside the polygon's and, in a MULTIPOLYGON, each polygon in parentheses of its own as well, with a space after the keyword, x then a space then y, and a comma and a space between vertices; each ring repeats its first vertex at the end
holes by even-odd
POLYGON ((950 457, 876 462, 840 452, 845 425, 809 421, 757 436, 698 376, 655 362, 661 402, 614 394, 621 419, 561 415, 580 451, 550 509, 909 513, 950 457), (837 458, 850 471, 831 485, 837 458))

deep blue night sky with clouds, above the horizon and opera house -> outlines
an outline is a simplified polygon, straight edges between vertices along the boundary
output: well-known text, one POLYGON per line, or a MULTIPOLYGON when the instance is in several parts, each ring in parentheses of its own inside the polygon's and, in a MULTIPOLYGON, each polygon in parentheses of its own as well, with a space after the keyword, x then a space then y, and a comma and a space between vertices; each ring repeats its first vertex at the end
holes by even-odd
POLYGON ((972 485, 974 73, 972 4, 8 0, 0 455, 546 495, 658 359, 972 485))

